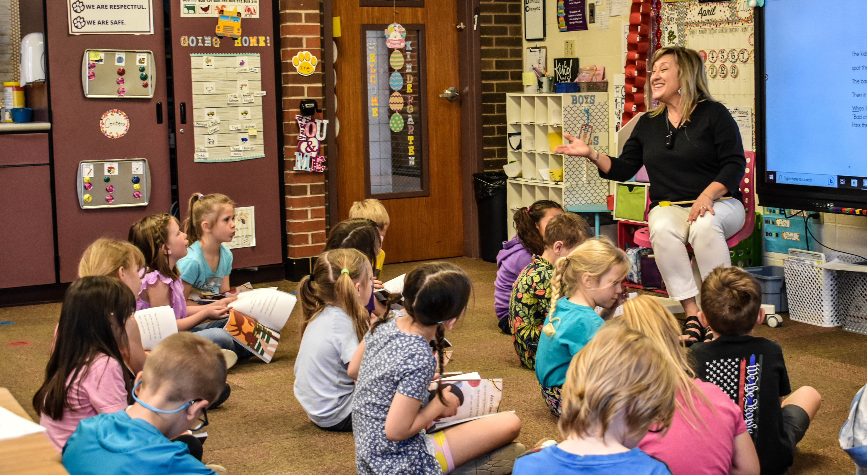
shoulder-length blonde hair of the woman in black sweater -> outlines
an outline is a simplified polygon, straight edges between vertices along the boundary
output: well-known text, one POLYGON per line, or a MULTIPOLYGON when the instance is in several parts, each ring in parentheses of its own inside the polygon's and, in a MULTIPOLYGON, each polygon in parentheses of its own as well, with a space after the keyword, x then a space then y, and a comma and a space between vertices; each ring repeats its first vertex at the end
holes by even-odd
MULTIPOLYGON (((650 60, 650 71, 653 70, 655 62, 664 55, 675 56, 678 68, 677 79, 681 82, 681 118, 686 123, 689 121, 689 116, 696 103, 714 101, 714 96, 710 94, 710 88, 707 87, 704 62, 698 51, 694 49, 670 46, 656 50, 653 59, 650 60)), ((659 103, 658 107, 653 107, 653 94, 644 94, 644 102, 650 117, 662 114, 665 110, 665 104, 662 102, 659 103)))

